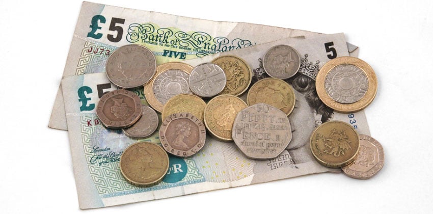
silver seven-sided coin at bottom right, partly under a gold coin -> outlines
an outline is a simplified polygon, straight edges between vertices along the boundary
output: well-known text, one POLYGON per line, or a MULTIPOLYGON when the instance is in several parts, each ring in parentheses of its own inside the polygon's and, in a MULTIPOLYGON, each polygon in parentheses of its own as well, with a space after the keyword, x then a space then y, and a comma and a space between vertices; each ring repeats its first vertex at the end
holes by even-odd
POLYGON ((359 144, 357 158, 351 164, 342 167, 342 170, 349 177, 368 179, 384 166, 384 148, 368 135, 359 135, 359 144))

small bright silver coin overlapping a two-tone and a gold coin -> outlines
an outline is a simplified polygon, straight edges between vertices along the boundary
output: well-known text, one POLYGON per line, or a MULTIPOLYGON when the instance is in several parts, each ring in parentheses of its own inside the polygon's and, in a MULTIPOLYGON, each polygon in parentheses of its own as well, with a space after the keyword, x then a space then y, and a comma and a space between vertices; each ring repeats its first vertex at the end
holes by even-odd
POLYGON ((223 91, 227 78, 224 70, 213 63, 197 65, 190 74, 190 89, 200 97, 213 97, 223 91))

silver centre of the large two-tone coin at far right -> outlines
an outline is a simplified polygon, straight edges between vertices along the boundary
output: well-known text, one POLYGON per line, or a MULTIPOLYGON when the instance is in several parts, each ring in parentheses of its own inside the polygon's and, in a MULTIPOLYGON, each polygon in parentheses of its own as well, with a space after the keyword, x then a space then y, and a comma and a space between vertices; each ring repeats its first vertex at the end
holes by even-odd
POLYGON ((326 93, 336 102, 354 103, 368 90, 365 72, 355 65, 341 64, 331 69, 324 80, 326 93))

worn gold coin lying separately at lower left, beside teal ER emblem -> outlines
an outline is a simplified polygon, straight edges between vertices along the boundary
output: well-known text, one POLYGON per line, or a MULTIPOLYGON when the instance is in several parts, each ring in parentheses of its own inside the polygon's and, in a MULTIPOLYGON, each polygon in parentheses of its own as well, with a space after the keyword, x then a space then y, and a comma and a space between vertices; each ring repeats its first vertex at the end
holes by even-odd
POLYGON ((130 184, 146 187, 163 180, 169 169, 169 155, 156 144, 140 142, 125 149, 119 165, 130 184))

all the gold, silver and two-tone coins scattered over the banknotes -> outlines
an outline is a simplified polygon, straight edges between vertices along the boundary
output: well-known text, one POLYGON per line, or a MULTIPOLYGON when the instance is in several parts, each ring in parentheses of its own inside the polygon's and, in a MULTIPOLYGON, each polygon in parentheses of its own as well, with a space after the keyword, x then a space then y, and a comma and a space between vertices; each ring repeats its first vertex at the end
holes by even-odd
MULTIPOLYGON (((140 139, 159 126, 156 112, 163 119, 159 128, 162 148, 141 142, 123 152, 120 168, 125 179, 137 186, 158 183, 167 173, 168 153, 179 157, 196 154, 205 145, 206 132, 220 141, 234 141, 249 158, 272 159, 281 154, 292 138, 287 116, 296 100, 293 88, 283 79, 302 70, 299 53, 287 45, 274 46, 265 53, 263 68, 270 77, 250 86, 252 71, 236 56, 218 57, 194 68, 180 62, 156 66, 153 53, 144 46, 118 48, 107 61, 106 74, 120 89, 100 98, 96 113, 102 124, 122 128, 126 136, 140 139), (151 107, 127 90, 137 87, 144 87, 151 107), (248 89, 245 102, 238 96, 248 89), (280 93, 267 93, 274 89, 280 93), (158 167, 149 167, 150 162, 158 167)), ((319 98, 337 112, 364 109, 377 90, 374 71, 357 58, 331 60, 314 77, 319 98)), ((383 165, 380 144, 341 121, 318 126, 310 147, 320 164, 343 167, 355 178, 369 178, 383 165), (373 155, 380 163, 366 172, 357 160, 370 155, 372 148, 378 149, 373 155)))

